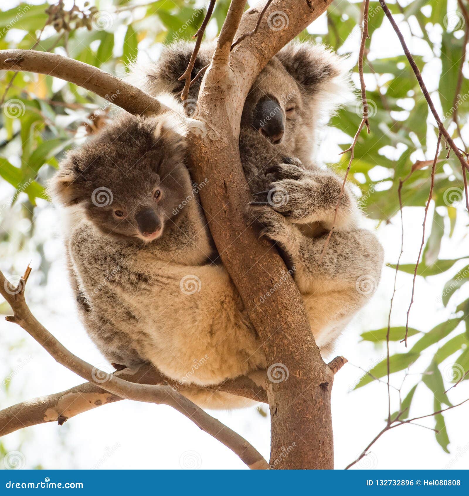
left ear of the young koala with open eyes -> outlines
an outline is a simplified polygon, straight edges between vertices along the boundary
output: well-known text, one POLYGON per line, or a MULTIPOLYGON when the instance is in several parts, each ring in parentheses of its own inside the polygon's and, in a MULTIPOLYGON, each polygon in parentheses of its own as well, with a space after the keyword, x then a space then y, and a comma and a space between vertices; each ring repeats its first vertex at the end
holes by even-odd
POLYGON ((79 184, 83 170, 79 154, 68 152, 60 162, 59 170, 49 181, 48 193, 52 199, 65 206, 76 205, 80 202, 79 184))

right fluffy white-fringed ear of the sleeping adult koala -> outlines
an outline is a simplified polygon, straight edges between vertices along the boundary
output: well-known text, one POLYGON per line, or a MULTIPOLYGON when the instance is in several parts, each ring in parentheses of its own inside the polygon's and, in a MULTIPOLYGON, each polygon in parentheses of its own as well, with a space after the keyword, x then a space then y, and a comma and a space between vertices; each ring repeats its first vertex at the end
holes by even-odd
POLYGON ((353 99, 349 69, 345 59, 311 42, 291 42, 276 58, 310 95, 323 93, 337 106, 353 99))

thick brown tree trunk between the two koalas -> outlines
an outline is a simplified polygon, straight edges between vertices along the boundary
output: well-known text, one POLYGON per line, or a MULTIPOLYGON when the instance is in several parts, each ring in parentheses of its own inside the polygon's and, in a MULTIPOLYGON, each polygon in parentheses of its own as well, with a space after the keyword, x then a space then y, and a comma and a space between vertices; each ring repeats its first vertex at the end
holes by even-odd
MULTIPOLYGON (((280 280, 285 264, 271 243, 258 241, 255 230, 246 226, 246 205, 251 196, 238 148, 241 113, 255 78, 273 55, 324 12, 331 0, 274 0, 258 33, 230 54, 233 26, 238 25, 244 3, 232 1, 213 63, 202 83, 197 117, 206 121, 209 132, 192 137, 192 169, 198 183, 208 180, 200 195, 210 231, 261 336, 267 364, 277 364, 270 373, 273 380, 267 384, 270 465, 331 469, 333 373, 321 359, 298 288, 291 278, 280 280), (283 29, 269 28, 274 15, 283 19, 283 29), (278 289, 261 304, 261 297, 276 283, 278 289), (282 374, 285 378, 279 380, 282 374)), ((243 15, 237 36, 254 29, 264 4, 243 15)))

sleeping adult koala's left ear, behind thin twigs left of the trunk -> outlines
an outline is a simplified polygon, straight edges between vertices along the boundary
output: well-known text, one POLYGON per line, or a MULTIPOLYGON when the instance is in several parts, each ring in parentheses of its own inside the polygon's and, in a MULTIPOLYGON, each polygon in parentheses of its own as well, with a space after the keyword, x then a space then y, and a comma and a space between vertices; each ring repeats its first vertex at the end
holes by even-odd
MULTIPOLYGON (((181 93, 184 81, 178 79, 189 64, 194 45, 195 43, 177 42, 164 46, 156 62, 134 62, 130 66, 126 80, 153 96, 158 93, 172 93, 174 95, 181 93)), ((194 78, 200 69, 210 63, 214 49, 214 42, 202 44, 191 78, 194 78)), ((201 82, 202 78, 199 78, 191 85, 189 98, 197 99, 201 82)))

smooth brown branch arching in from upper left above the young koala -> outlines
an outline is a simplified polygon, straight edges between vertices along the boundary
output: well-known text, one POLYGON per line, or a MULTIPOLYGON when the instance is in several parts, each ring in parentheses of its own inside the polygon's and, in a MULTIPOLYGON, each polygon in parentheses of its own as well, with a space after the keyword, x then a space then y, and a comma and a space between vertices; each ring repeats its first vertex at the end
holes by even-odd
POLYGON ((0 50, 0 70, 58 77, 96 93, 134 115, 169 110, 150 95, 93 65, 35 50, 0 50))

